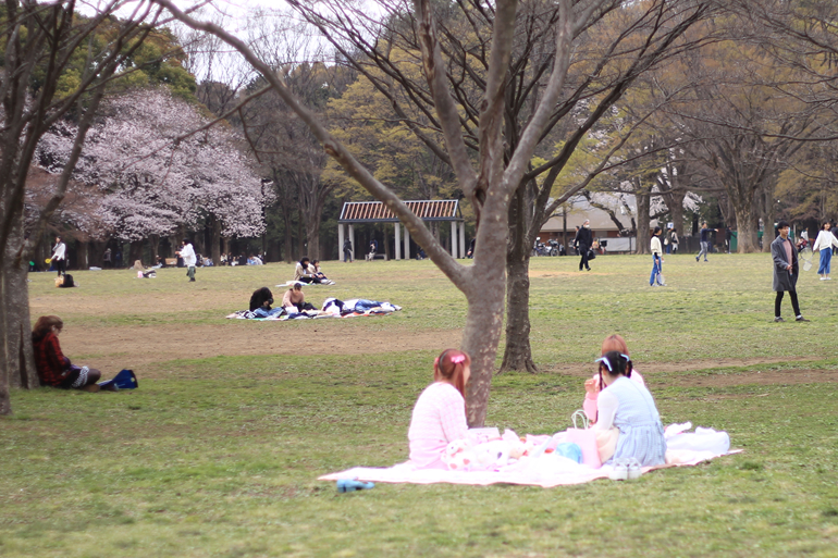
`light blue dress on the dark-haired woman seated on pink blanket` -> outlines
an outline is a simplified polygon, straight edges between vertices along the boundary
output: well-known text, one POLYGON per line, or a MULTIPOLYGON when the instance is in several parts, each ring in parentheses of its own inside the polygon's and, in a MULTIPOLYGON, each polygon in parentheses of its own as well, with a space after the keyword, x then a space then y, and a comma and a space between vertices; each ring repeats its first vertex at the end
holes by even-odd
POLYGON ((614 416, 614 425, 619 430, 619 438, 612 460, 633 457, 642 467, 664 464, 664 427, 649 389, 621 376, 611 384, 607 390, 619 400, 614 416))

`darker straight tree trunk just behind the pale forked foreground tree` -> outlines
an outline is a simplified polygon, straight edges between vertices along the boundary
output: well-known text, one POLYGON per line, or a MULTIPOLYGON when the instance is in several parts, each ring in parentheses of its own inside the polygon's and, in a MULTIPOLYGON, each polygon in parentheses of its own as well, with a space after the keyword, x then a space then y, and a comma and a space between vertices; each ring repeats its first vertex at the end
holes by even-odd
POLYGON ((530 250, 523 188, 509 204, 508 252, 506 257, 506 347, 498 373, 507 370, 538 372, 530 345, 530 250))

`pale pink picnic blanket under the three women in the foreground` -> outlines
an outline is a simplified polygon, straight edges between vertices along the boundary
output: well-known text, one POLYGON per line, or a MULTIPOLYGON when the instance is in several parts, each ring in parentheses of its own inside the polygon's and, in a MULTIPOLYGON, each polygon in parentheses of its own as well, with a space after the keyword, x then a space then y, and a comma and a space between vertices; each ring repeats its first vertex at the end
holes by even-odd
MULTIPOLYGON (((703 436, 693 433, 687 433, 682 426, 671 425, 668 429, 669 439, 673 441, 675 449, 666 451, 666 464, 655 467, 644 467, 643 474, 657 469, 667 469, 671 467, 691 467, 710 461, 725 455, 739 454, 741 449, 713 448, 706 445, 707 449, 702 449, 704 444, 703 436), (673 427, 675 426, 675 429, 673 427), (683 436, 677 438, 677 436, 683 436), (692 447, 693 449, 687 449, 692 447), (723 450, 724 449, 724 450, 723 450)), ((691 425, 690 425, 691 427, 691 425)), ((705 430, 706 432, 706 430, 705 430)), ((713 431, 715 432, 715 431, 713 431)), ((409 484, 521 484, 531 486, 541 486, 542 488, 552 488, 554 486, 583 484, 596 479, 607 479, 613 468, 604 464, 597 469, 583 463, 577 463, 570 459, 557 454, 543 454, 537 458, 523 457, 515 463, 500 467, 490 471, 448 471, 444 469, 417 469, 416 466, 406 461, 389 468, 374 467, 355 467, 337 473, 320 476, 319 481, 337 481, 341 479, 357 479, 365 482, 382 483, 409 483, 409 484)))

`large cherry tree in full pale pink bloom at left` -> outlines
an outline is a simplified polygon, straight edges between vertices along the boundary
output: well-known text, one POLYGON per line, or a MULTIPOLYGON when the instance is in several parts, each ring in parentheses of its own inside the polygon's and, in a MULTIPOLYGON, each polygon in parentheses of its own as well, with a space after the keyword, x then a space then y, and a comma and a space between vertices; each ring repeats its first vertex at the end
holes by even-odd
MULTIPOLYGON (((261 234, 270 201, 261 179, 237 134, 210 123, 198 106, 162 87, 104 102, 73 172, 102 193, 104 227, 127 241, 169 236, 201 219, 217 222, 219 235, 261 234)), ((59 123, 41 139, 37 160, 47 171, 63 170, 72 128, 59 123)))

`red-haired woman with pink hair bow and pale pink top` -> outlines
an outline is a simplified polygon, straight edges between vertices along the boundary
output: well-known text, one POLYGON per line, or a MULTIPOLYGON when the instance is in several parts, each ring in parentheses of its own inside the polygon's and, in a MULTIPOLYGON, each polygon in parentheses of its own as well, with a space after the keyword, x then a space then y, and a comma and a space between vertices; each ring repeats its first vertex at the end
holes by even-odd
POLYGON ((468 433, 466 384, 471 358, 457 349, 445 349, 433 361, 433 383, 424 388, 414 407, 407 438, 410 461, 419 469, 446 469, 445 447, 468 433))

